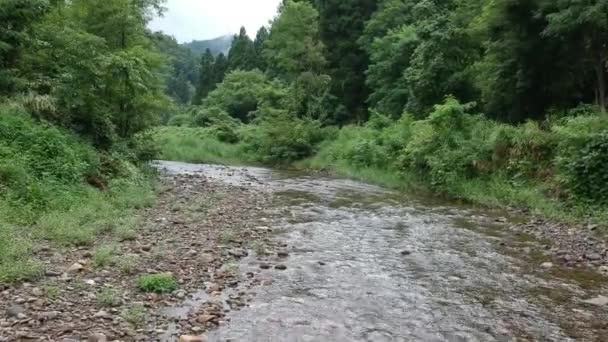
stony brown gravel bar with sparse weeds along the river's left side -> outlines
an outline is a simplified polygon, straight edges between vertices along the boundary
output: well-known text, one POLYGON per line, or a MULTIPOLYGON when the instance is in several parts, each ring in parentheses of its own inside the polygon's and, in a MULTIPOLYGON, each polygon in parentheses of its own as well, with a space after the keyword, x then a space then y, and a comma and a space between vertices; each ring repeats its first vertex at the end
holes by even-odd
POLYGON ((204 336, 246 305, 264 270, 243 276, 238 259, 273 254, 263 224, 270 194, 200 174, 166 175, 160 192, 127 241, 39 248, 39 282, 0 285, 0 341, 175 341, 204 336), (167 272, 174 291, 137 287, 142 275, 167 272))

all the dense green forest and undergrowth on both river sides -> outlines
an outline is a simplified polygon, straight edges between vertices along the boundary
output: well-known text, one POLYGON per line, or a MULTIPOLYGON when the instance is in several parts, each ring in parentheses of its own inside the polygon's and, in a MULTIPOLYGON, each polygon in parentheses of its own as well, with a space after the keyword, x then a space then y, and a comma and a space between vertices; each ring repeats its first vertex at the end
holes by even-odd
POLYGON ((286 0, 218 55, 162 12, 0 0, 0 281, 41 272, 36 241, 131 237, 155 158, 607 216, 607 0, 286 0))

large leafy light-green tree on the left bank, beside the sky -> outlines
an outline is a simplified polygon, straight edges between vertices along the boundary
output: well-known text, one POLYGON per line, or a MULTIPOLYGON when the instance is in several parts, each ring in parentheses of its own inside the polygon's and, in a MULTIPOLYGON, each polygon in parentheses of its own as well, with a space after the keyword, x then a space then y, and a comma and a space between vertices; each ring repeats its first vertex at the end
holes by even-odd
POLYGON ((49 119, 101 148, 159 120, 169 104, 167 58, 155 51, 146 24, 160 3, 74 0, 36 25, 19 67, 30 91, 54 100, 61 115, 49 119))

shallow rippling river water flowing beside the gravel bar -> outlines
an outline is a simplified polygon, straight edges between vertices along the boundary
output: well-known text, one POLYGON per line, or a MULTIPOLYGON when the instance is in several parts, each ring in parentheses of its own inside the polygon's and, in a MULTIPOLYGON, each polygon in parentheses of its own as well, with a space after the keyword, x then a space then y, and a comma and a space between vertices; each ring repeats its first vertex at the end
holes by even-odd
POLYGON ((541 267, 547 242, 510 233, 516 218, 298 172, 161 167, 275 198, 260 216, 287 270, 210 341, 608 341, 608 308, 582 302, 602 282, 541 267))

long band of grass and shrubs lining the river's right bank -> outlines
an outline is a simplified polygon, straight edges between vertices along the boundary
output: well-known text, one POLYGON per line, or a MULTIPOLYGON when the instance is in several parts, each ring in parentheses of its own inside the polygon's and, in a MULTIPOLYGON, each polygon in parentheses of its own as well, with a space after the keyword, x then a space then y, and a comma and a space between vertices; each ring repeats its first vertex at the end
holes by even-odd
POLYGON ((272 117, 234 128, 236 143, 219 141, 212 127, 167 127, 157 137, 170 160, 324 169, 486 207, 603 224, 607 130, 608 119, 585 108, 514 126, 469 114, 448 99, 423 120, 375 115, 365 125, 338 129, 272 117))

